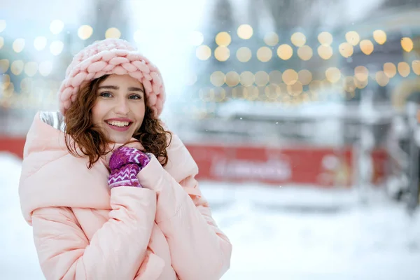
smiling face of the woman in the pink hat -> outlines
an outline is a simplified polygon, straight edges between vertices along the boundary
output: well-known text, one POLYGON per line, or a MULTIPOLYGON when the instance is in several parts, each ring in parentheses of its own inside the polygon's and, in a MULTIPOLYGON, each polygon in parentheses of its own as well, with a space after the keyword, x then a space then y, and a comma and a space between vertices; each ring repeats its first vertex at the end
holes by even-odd
POLYGON ((109 141, 130 141, 144 120, 144 87, 129 75, 110 75, 99 83, 92 120, 109 141))

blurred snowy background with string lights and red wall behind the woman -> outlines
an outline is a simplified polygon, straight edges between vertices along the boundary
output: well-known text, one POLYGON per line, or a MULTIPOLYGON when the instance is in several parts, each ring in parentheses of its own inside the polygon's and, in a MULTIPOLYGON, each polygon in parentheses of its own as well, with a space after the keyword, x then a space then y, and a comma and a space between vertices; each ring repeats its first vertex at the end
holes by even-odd
POLYGON ((420 279, 420 0, 0 0, 0 279, 43 279, 18 181, 71 58, 123 38, 234 246, 223 279, 420 279))

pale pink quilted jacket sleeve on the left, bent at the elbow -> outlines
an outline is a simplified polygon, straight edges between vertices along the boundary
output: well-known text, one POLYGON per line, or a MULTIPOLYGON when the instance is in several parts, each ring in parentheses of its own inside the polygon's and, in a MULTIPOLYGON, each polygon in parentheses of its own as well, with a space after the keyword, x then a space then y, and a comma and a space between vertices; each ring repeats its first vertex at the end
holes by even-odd
POLYGON ((146 188, 111 190, 109 221, 88 240, 66 207, 32 214, 34 241, 46 279, 127 279, 146 257, 156 195, 146 188))

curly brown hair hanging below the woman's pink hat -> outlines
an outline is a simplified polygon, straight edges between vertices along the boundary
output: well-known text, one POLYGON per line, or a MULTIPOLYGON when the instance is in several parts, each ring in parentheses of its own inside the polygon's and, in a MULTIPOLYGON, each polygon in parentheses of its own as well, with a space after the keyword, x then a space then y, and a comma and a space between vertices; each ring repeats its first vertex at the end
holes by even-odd
MULTIPOLYGON (((95 162, 103 155, 109 153, 111 141, 106 139, 105 134, 99 127, 95 127, 92 120, 92 108, 97 99, 99 84, 106 80, 108 75, 102 76, 80 87, 76 100, 66 111, 64 121, 66 123, 66 146, 69 152, 78 157, 89 158, 87 168, 92 168, 95 162), (80 150, 83 155, 78 153, 80 150)), ((153 110, 147 106, 147 97, 144 94, 146 111, 141 127, 133 135, 140 141, 144 151, 153 153, 159 159, 162 166, 167 165, 167 147, 172 141, 171 132, 162 127, 161 121, 153 116, 153 110)))

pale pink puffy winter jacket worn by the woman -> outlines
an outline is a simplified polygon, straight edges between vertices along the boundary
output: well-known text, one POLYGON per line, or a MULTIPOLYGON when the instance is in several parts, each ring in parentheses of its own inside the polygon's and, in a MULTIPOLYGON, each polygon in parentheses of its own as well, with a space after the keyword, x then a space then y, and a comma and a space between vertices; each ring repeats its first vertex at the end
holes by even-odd
POLYGON ((169 162, 139 173, 144 188, 109 190, 104 160, 87 169, 39 113, 27 134, 19 193, 46 279, 220 279, 232 245, 217 227, 195 161, 172 138, 169 162))

